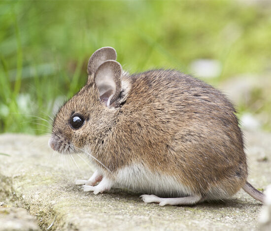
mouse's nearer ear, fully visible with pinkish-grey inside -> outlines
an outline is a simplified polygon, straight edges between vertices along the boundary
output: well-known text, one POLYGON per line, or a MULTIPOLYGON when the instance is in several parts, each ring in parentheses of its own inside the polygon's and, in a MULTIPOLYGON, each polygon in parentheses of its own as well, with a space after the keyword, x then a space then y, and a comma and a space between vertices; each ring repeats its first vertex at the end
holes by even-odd
POLYGON ((121 64, 115 60, 107 60, 102 63, 94 76, 98 88, 100 100, 108 108, 116 101, 121 91, 121 64))

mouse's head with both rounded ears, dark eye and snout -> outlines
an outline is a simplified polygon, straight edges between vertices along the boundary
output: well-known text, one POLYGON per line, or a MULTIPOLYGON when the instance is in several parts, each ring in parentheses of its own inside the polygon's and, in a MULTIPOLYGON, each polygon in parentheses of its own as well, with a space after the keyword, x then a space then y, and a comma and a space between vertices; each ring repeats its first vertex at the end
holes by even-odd
POLYGON ((52 149, 73 153, 103 143, 129 88, 122 83, 122 67, 115 59, 116 52, 110 47, 91 56, 87 84, 59 109, 54 119, 49 140, 52 149))

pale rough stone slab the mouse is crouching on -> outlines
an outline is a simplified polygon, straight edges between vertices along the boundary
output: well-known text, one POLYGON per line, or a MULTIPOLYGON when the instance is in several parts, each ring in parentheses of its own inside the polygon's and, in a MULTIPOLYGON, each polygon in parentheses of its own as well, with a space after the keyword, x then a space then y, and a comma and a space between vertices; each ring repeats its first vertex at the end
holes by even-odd
MULTIPOLYGON (((245 137, 248 181, 265 189, 271 183, 271 134, 245 132, 245 137)), ((139 195, 117 189, 99 195, 83 192, 74 179, 91 175, 88 161, 80 158, 83 155, 54 153, 47 141, 46 137, 0 135, 0 153, 7 154, 0 155, 0 202, 26 208, 41 230, 259 229, 262 204, 242 190, 224 202, 165 207, 145 204, 139 195)))

